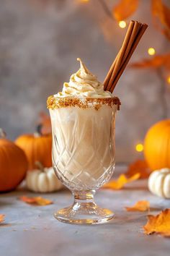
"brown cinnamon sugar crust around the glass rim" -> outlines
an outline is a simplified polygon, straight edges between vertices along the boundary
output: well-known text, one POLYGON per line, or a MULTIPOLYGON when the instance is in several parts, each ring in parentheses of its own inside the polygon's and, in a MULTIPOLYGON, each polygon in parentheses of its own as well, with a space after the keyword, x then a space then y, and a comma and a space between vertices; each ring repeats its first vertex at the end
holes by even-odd
POLYGON ((78 106, 79 108, 91 108, 94 107, 98 110, 102 105, 112 107, 117 105, 117 110, 120 110, 120 99, 118 97, 113 98, 79 98, 79 97, 54 97, 51 95, 47 100, 47 108, 66 108, 70 106, 78 106))

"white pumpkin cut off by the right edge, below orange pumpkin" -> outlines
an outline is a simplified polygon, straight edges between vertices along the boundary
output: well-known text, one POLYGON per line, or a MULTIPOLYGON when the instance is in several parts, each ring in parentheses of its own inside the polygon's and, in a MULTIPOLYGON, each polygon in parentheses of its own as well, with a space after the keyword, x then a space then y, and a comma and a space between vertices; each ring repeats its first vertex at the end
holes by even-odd
POLYGON ((148 178, 148 189, 159 197, 170 198, 170 169, 153 171, 148 178))

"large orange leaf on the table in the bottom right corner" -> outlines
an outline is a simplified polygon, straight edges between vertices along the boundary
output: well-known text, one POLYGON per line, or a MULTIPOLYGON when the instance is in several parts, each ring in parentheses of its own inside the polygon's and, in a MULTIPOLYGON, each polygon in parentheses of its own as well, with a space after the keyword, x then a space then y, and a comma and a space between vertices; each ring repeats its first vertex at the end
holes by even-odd
POLYGON ((148 222, 143 226, 145 234, 161 234, 162 236, 170 235, 170 209, 162 210, 156 216, 148 215, 148 222))

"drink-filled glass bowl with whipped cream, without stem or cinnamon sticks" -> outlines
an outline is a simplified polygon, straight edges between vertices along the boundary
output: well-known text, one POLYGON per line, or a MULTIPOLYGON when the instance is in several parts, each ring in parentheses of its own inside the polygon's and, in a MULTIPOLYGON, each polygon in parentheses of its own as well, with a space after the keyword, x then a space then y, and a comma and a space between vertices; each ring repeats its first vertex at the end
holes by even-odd
POLYGON ((71 189, 96 189, 115 165, 117 97, 80 61, 62 92, 48 98, 53 130, 53 166, 71 189))

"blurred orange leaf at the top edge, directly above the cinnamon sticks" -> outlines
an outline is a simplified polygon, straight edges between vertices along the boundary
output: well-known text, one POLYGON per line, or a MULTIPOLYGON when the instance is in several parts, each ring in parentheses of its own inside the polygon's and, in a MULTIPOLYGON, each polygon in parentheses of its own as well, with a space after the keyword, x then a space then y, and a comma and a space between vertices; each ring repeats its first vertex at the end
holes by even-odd
POLYGON ((138 8, 138 0, 120 0, 119 3, 113 7, 113 15, 117 21, 126 20, 138 8))

